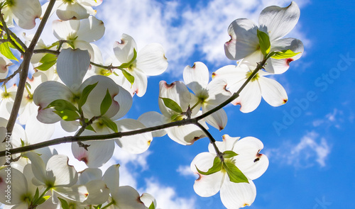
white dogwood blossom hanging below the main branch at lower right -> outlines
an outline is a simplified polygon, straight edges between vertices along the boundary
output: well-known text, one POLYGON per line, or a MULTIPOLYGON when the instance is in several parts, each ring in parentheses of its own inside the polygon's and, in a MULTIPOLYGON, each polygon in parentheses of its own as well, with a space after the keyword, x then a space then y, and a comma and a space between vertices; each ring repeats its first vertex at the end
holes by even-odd
POLYGON ((234 164, 246 176, 249 183, 231 181, 224 167, 213 174, 200 174, 197 169, 207 171, 217 157, 214 147, 210 144, 209 152, 197 154, 191 162, 191 170, 199 175, 194 184, 195 192, 199 196, 209 197, 220 191, 222 203, 226 208, 251 205, 256 197, 256 187, 252 180, 260 177, 268 168, 268 158, 259 153, 263 149, 263 143, 255 137, 244 137, 239 140, 239 137, 224 135, 223 142, 216 142, 216 145, 220 152, 231 150, 237 154, 224 159, 224 163, 234 164))

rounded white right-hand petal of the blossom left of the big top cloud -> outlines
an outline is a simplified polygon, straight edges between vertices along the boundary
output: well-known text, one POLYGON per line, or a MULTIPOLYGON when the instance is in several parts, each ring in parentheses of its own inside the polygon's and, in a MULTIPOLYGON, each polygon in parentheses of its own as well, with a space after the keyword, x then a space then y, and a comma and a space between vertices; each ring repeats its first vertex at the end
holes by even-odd
POLYGON ((163 46, 151 43, 138 52, 136 67, 148 76, 156 76, 165 72, 168 61, 163 46))

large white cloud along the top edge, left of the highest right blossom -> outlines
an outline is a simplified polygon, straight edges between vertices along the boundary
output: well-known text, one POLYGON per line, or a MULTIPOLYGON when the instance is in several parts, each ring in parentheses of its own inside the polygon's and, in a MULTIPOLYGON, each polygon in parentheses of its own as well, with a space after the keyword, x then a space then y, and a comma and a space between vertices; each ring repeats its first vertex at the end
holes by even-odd
MULTIPOLYGON (((306 3, 307 0, 297 1, 300 6, 306 3)), ((276 0, 212 0, 206 6, 192 9, 180 1, 122 0, 119 4, 104 1, 97 8, 97 17, 102 18, 107 30, 99 45, 104 47, 104 57, 108 57, 113 55, 112 45, 121 39, 122 33, 136 40, 138 50, 148 43, 160 43, 170 63, 168 70, 180 76, 183 67, 193 64, 187 60, 194 53, 216 65, 234 63, 224 55, 229 24, 236 18, 250 18, 258 23, 258 15, 266 6, 288 4, 289 1, 276 0)), ((290 36, 305 35, 297 27, 290 36)), ((201 60, 193 62, 196 61, 201 60)))

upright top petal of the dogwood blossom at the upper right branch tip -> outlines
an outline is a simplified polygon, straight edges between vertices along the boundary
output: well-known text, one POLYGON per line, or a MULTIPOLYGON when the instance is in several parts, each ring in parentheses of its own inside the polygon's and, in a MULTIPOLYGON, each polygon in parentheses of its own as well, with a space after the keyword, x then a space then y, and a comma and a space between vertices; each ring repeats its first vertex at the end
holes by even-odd
POLYGON ((261 11, 259 27, 268 33, 270 40, 278 40, 290 33, 300 18, 300 9, 295 1, 287 7, 268 6, 261 11))

